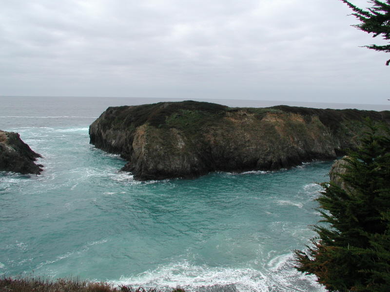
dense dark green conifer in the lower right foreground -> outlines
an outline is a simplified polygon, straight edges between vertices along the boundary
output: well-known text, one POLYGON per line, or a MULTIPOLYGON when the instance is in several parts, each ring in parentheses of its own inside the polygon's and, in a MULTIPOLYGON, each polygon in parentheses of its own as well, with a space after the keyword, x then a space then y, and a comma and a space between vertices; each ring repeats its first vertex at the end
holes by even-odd
POLYGON ((372 123, 357 151, 345 157, 342 183, 322 183, 317 201, 325 224, 296 269, 314 274, 328 291, 390 291, 390 139, 372 123))

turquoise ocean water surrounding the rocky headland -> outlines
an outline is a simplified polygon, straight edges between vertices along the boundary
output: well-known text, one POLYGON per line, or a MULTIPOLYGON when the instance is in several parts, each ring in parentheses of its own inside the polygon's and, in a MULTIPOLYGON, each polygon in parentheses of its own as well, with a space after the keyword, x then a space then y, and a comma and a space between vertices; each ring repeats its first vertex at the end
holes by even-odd
MULTIPOLYGON (((79 277, 161 290, 322 292, 293 268, 320 217, 331 162, 137 182, 89 144, 108 106, 145 99, 0 97, 0 129, 41 175, 0 172, 0 276, 79 277)), ((152 100, 154 101, 154 100, 152 100)), ((226 101, 226 103, 232 101, 226 101)))

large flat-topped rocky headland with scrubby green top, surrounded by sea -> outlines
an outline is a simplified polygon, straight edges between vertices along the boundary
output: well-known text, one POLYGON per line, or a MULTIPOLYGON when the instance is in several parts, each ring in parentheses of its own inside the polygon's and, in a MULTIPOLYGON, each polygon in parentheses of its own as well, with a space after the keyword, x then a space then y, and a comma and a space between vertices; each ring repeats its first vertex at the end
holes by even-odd
POLYGON ((126 159, 122 170, 136 179, 192 178, 334 159, 357 146, 366 116, 390 125, 388 111, 166 102, 108 108, 89 133, 91 144, 126 159))

